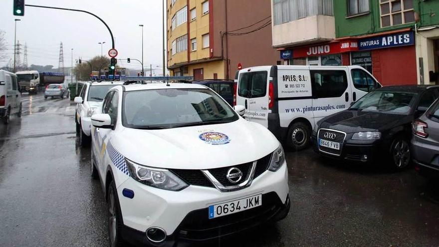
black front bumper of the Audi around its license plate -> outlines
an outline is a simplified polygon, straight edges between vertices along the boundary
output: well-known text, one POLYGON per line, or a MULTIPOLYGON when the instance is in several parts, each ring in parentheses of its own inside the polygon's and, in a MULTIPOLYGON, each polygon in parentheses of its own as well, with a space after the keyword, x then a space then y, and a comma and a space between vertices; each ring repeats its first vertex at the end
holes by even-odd
POLYGON ((386 155, 386 150, 388 150, 385 145, 383 145, 379 140, 378 141, 352 141, 350 140, 352 136, 347 135, 344 143, 341 145, 342 150, 340 155, 333 155, 329 153, 322 152, 319 149, 318 138, 315 133, 312 134, 311 143, 313 150, 325 157, 345 160, 345 161, 354 161, 354 162, 362 162, 362 163, 372 163, 375 161, 380 161, 383 159, 383 155, 386 155))

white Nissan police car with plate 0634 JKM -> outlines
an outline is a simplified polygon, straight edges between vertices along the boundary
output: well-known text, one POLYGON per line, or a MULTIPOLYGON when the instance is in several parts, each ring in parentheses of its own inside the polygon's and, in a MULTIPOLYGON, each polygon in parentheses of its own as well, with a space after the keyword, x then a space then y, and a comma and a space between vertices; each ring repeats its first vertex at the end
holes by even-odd
MULTIPOLYGON (((110 246, 216 240, 290 208, 279 141, 196 84, 116 86, 92 119, 110 246)), ((204 243, 204 242, 203 242, 204 243)))

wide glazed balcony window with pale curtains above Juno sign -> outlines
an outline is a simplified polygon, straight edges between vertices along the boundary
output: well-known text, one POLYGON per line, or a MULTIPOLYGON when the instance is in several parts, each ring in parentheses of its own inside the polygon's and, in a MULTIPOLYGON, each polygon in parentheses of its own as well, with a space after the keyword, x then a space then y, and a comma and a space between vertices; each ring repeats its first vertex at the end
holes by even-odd
POLYGON ((333 15, 332 0, 273 0, 274 24, 313 15, 333 15))

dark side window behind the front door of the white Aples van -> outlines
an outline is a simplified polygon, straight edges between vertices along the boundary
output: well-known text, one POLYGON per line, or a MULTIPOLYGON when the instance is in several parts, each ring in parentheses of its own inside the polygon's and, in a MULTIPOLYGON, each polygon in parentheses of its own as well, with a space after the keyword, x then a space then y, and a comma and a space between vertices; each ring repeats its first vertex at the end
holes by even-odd
POLYGON ((311 70, 313 96, 317 98, 336 98, 348 88, 348 79, 343 70, 311 70))

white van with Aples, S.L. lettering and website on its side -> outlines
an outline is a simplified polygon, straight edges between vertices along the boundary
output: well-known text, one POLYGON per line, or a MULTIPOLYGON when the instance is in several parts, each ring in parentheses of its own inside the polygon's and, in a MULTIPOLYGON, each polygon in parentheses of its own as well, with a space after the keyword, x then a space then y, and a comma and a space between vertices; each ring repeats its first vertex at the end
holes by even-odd
POLYGON ((381 87, 360 66, 258 66, 237 73, 236 105, 294 150, 304 149, 314 125, 381 87))

